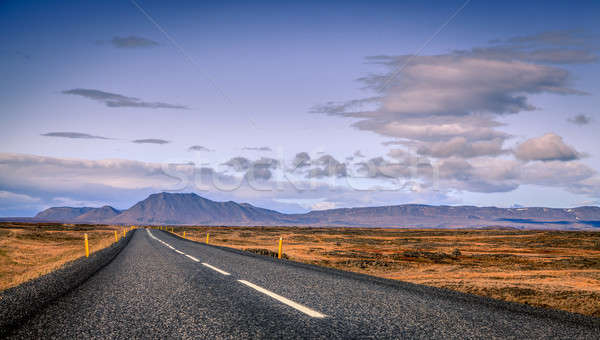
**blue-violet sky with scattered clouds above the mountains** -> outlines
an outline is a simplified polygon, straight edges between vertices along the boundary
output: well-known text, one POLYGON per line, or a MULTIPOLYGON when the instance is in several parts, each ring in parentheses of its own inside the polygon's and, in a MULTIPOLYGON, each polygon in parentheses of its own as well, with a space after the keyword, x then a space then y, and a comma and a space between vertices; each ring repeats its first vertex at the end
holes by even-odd
POLYGON ((0 216, 600 205, 597 1, 3 1, 0 216))

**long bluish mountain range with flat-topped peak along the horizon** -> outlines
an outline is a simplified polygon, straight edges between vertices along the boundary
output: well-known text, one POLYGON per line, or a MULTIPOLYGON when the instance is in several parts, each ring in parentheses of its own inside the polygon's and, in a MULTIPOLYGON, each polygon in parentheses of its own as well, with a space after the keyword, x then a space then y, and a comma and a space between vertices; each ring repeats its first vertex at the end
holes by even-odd
POLYGON ((600 228, 600 207, 559 209, 404 204, 284 214, 248 203, 215 202, 194 193, 163 192, 152 194, 123 211, 110 206, 54 207, 41 211, 34 220, 124 225, 597 229, 600 228))

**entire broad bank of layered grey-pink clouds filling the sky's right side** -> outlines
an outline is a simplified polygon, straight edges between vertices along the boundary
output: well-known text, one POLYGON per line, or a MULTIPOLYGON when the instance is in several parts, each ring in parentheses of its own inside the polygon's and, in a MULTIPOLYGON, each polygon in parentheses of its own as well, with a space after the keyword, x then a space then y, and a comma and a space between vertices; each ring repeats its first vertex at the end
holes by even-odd
POLYGON ((384 145, 404 146, 388 152, 393 162, 358 163, 369 178, 413 179, 420 190, 507 192, 537 184, 597 196, 596 171, 573 162, 583 155, 562 137, 546 134, 511 150, 505 144, 513 136, 500 122, 503 115, 538 110, 534 95, 587 94, 571 87, 569 70, 556 66, 598 59, 582 41, 574 48, 575 37, 547 32, 440 55, 368 57, 383 72, 359 81, 375 95, 313 112, 357 119, 354 127, 394 139, 384 145))

